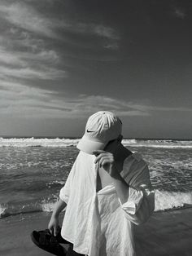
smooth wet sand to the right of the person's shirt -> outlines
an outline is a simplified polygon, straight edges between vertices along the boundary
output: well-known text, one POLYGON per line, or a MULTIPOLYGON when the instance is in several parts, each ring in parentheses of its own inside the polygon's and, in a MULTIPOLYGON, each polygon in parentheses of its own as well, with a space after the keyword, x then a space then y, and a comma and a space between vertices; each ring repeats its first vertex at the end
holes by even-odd
POLYGON ((191 256, 192 208, 155 212, 135 236, 137 256, 191 256))

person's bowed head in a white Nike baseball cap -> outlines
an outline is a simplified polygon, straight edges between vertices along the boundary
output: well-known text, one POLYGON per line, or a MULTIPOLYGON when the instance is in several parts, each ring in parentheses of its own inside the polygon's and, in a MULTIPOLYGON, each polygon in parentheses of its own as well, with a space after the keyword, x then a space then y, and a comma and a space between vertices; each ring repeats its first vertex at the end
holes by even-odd
POLYGON ((89 117, 85 126, 85 134, 76 148, 93 154, 95 150, 104 150, 114 140, 120 143, 123 138, 121 132, 122 122, 116 114, 109 111, 99 111, 89 117))

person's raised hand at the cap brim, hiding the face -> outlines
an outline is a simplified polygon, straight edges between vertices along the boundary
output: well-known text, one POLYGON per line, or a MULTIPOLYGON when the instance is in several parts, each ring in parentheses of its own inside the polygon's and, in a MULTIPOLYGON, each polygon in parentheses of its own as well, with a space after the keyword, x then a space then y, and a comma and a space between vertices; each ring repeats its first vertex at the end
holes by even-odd
POLYGON ((114 155, 104 150, 96 150, 94 155, 96 156, 94 163, 98 163, 99 167, 103 167, 112 178, 116 178, 116 175, 119 173, 116 168, 114 155))

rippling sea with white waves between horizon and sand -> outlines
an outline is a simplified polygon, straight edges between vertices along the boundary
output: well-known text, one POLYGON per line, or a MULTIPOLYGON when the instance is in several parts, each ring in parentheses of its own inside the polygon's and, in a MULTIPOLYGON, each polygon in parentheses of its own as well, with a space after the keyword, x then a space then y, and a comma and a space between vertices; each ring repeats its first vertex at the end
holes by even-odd
MULTIPOLYGON (((0 217, 50 212, 59 198, 79 139, 0 138, 0 217)), ((146 160, 155 211, 192 204, 192 141, 124 139, 146 160)))

